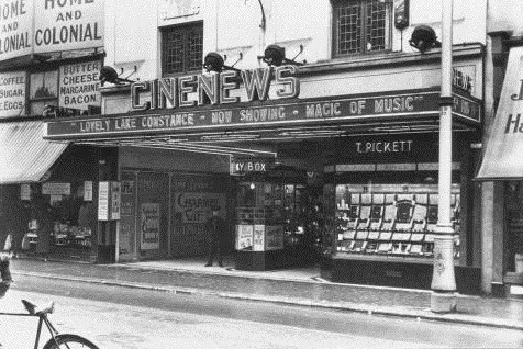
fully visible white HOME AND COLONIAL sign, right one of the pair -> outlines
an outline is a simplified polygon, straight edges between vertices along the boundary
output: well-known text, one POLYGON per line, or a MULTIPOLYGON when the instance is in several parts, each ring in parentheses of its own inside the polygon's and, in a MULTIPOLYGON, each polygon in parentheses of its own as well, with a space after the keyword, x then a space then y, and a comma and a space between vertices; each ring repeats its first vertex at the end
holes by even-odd
POLYGON ((35 53, 103 46, 103 0, 37 0, 34 5, 35 53))

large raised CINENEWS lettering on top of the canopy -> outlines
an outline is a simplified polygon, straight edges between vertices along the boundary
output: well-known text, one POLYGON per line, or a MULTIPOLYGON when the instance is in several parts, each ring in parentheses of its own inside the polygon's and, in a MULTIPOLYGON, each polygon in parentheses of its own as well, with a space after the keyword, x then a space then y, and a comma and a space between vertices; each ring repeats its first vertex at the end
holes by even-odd
POLYGON ((296 66, 281 66, 138 81, 131 86, 131 106, 133 110, 147 110, 237 103, 240 97, 231 92, 240 88, 240 80, 249 102, 267 100, 272 79, 278 98, 297 98, 300 94, 297 72, 296 66), (142 97, 146 97, 147 101, 142 101, 142 97))

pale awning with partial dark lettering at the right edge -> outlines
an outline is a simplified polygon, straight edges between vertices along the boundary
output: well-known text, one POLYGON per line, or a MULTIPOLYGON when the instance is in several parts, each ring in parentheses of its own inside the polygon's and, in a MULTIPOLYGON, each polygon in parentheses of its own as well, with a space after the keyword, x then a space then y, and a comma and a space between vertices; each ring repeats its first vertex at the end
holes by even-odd
POLYGON ((499 108, 477 179, 523 179, 523 47, 510 50, 499 108))

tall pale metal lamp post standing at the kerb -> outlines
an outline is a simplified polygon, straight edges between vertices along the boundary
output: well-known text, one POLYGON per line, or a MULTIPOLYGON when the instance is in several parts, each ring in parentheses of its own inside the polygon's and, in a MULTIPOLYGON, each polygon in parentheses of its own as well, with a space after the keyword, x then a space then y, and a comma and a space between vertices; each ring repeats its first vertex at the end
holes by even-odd
POLYGON ((439 101, 439 179, 438 218, 434 238, 433 290, 431 311, 456 311, 454 274, 454 228, 450 219, 452 191, 452 66, 453 66, 453 0, 444 0, 442 13, 442 90, 439 101))

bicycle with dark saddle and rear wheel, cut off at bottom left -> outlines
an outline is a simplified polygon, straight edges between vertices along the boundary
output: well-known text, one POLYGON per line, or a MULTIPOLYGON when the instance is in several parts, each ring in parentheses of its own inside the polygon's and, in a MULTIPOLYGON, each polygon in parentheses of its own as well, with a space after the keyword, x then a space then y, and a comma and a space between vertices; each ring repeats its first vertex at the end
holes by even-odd
MULTIPOLYGON (((0 256, 0 273, 2 281, 0 281, 0 297, 5 295, 5 292, 12 283, 11 272, 9 270, 9 258, 0 256)), ((74 334, 60 334, 51 323, 48 314, 52 314, 54 311, 54 303, 52 302, 48 306, 44 307, 41 311, 37 311, 37 306, 26 300, 22 300, 22 303, 27 311, 27 313, 8 313, 0 312, 0 315, 7 316, 37 316, 38 317, 38 327, 36 329, 36 337, 34 339, 34 349, 38 349, 38 344, 42 335, 42 325, 45 324, 47 327, 51 338, 46 341, 43 349, 75 349, 75 348, 85 348, 85 349, 99 349, 98 346, 92 344, 90 340, 74 334)), ((1 348, 1 345, 0 345, 1 348)))

